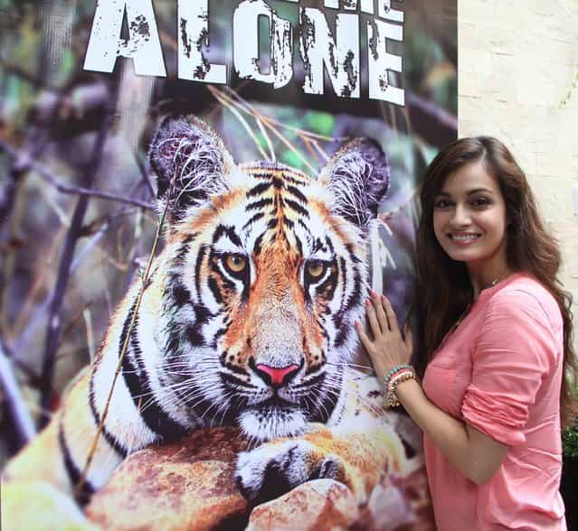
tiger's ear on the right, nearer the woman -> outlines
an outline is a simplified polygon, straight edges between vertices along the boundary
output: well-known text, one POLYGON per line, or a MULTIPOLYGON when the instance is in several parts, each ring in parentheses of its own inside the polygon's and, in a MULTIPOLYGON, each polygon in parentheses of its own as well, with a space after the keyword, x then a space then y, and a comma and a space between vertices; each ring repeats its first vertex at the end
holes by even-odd
POLYGON ((332 211, 366 228, 389 188, 389 163, 374 140, 355 138, 336 152, 319 178, 333 197, 332 211))

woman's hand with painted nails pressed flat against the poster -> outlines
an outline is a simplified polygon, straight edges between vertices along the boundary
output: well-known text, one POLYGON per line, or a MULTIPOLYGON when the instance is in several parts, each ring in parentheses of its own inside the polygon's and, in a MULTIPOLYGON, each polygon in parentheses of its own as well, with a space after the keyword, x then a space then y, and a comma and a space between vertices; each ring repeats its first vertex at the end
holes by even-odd
POLYGON ((397 326, 397 318, 392 305, 384 297, 372 293, 372 298, 365 301, 367 321, 374 340, 364 331, 360 322, 355 321, 355 330, 371 359, 380 384, 393 367, 408 363, 412 358, 412 332, 406 325, 404 336, 397 326))

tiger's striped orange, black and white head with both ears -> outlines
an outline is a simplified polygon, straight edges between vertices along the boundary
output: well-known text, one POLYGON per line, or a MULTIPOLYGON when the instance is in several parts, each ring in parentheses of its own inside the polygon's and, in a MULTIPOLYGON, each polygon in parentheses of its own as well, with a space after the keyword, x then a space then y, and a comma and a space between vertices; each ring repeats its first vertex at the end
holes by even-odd
POLYGON ((259 442, 330 422, 367 293, 367 228, 389 182, 381 149, 356 139, 312 179, 233 163, 187 116, 159 127, 150 160, 169 219, 163 387, 192 425, 237 424, 259 442))

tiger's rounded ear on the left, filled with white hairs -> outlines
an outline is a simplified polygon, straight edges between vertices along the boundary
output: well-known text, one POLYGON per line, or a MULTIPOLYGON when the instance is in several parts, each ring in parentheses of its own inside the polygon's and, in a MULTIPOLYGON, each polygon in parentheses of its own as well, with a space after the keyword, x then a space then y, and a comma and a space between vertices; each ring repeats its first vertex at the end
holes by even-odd
POLYGON ((168 116, 153 137, 149 160, 158 177, 156 196, 180 218, 189 207, 229 190, 233 160, 223 141, 196 116, 168 116))

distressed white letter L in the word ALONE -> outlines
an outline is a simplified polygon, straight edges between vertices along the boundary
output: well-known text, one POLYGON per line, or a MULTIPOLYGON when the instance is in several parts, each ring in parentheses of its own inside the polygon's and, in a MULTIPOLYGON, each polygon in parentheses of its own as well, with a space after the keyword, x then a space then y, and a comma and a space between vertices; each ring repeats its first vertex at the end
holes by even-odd
POLYGON ((209 0, 178 3, 178 77, 205 83, 226 83, 227 68, 203 55, 209 45, 209 0))

